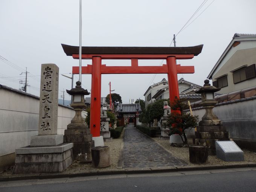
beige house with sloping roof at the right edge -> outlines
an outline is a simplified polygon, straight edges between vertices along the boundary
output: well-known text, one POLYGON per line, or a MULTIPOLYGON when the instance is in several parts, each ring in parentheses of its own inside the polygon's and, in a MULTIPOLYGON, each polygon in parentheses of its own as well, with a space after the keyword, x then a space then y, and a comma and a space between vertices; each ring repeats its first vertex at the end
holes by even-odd
POLYGON ((256 85, 256 34, 235 34, 207 76, 225 94, 256 85))

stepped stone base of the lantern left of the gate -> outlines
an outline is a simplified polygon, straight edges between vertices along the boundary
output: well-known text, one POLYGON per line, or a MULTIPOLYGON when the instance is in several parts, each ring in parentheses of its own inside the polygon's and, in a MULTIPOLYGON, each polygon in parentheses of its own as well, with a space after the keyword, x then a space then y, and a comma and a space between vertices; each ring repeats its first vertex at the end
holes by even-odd
POLYGON ((83 123, 70 123, 64 132, 64 142, 74 143, 74 159, 82 163, 91 162, 91 148, 94 146, 90 129, 87 127, 83 123))

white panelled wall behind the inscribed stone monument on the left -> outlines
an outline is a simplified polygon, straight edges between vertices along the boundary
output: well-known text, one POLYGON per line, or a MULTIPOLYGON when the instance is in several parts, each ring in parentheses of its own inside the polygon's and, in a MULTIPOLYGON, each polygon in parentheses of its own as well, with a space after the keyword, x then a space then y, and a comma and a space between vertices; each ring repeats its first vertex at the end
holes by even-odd
MULTIPOLYGON (((30 137, 38 134, 39 98, 4 86, 0 98, 1 157, 30 145, 30 137)), ((74 116, 72 108, 58 106, 58 134, 64 134, 74 116)))

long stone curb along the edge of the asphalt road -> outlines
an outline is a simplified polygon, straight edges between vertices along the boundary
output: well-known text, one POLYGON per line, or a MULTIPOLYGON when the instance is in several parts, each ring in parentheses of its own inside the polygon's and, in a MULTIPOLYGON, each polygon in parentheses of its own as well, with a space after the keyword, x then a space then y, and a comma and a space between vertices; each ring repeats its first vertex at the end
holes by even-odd
POLYGON ((117 175, 117 174, 145 174, 145 173, 161 173, 161 172, 178 172, 178 171, 198 171, 210 169, 228 169, 228 168, 245 168, 256 167, 256 163, 239 164, 233 163, 231 165, 197 165, 197 166, 172 166, 168 168, 126 168, 122 170, 111 171, 95 171, 95 172, 81 172, 81 173, 52 173, 52 174, 27 174, 27 175, 11 175, 9 177, 1 177, 0 181, 17 181, 29 179, 51 179, 51 178, 64 178, 64 177, 86 177, 98 175, 117 175))

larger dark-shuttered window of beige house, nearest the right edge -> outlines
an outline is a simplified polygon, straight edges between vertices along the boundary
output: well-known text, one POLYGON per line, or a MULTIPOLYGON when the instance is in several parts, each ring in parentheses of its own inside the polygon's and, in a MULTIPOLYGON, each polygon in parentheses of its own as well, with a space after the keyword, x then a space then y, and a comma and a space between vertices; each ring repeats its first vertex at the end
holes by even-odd
POLYGON ((250 66, 243 66, 239 69, 231 71, 233 72, 233 81, 234 84, 245 81, 247 79, 254 78, 256 76, 255 64, 250 66))

